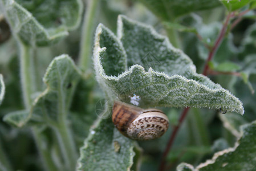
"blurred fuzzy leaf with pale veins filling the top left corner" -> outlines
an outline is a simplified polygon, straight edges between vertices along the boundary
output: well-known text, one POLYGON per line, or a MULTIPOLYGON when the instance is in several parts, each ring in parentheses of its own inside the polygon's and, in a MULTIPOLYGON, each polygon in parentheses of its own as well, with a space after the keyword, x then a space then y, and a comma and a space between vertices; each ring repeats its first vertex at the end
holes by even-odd
POLYGON ((78 27, 82 15, 80 0, 1 0, 0 7, 13 31, 23 42, 45 46, 78 27))

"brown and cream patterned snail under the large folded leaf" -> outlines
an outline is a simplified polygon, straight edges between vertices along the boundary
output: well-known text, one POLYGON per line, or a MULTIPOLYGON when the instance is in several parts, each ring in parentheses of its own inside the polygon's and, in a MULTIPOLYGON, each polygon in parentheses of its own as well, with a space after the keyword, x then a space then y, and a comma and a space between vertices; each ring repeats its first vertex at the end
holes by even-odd
POLYGON ((159 109, 142 109, 120 101, 113 104, 112 121, 124 136, 139 141, 157 139, 169 126, 168 117, 159 109))

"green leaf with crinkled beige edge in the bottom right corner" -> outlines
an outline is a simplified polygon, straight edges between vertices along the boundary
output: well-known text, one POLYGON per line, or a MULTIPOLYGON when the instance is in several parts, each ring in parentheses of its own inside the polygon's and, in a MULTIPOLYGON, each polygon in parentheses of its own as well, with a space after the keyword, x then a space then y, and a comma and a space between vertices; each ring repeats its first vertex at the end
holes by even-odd
POLYGON ((256 122, 243 125, 242 136, 233 148, 228 148, 214 154, 213 158, 194 168, 192 165, 182 163, 178 171, 197 170, 255 170, 256 163, 256 122))

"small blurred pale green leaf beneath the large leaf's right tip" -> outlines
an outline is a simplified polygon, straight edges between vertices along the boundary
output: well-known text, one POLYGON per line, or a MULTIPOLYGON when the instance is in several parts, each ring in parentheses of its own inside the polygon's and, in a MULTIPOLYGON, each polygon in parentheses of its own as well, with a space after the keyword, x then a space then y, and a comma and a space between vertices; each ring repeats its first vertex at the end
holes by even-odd
POLYGON ((219 114, 224 127, 229 130, 235 137, 240 137, 241 132, 239 128, 247 121, 241 115, 233 115, 233 113, 219 114))

